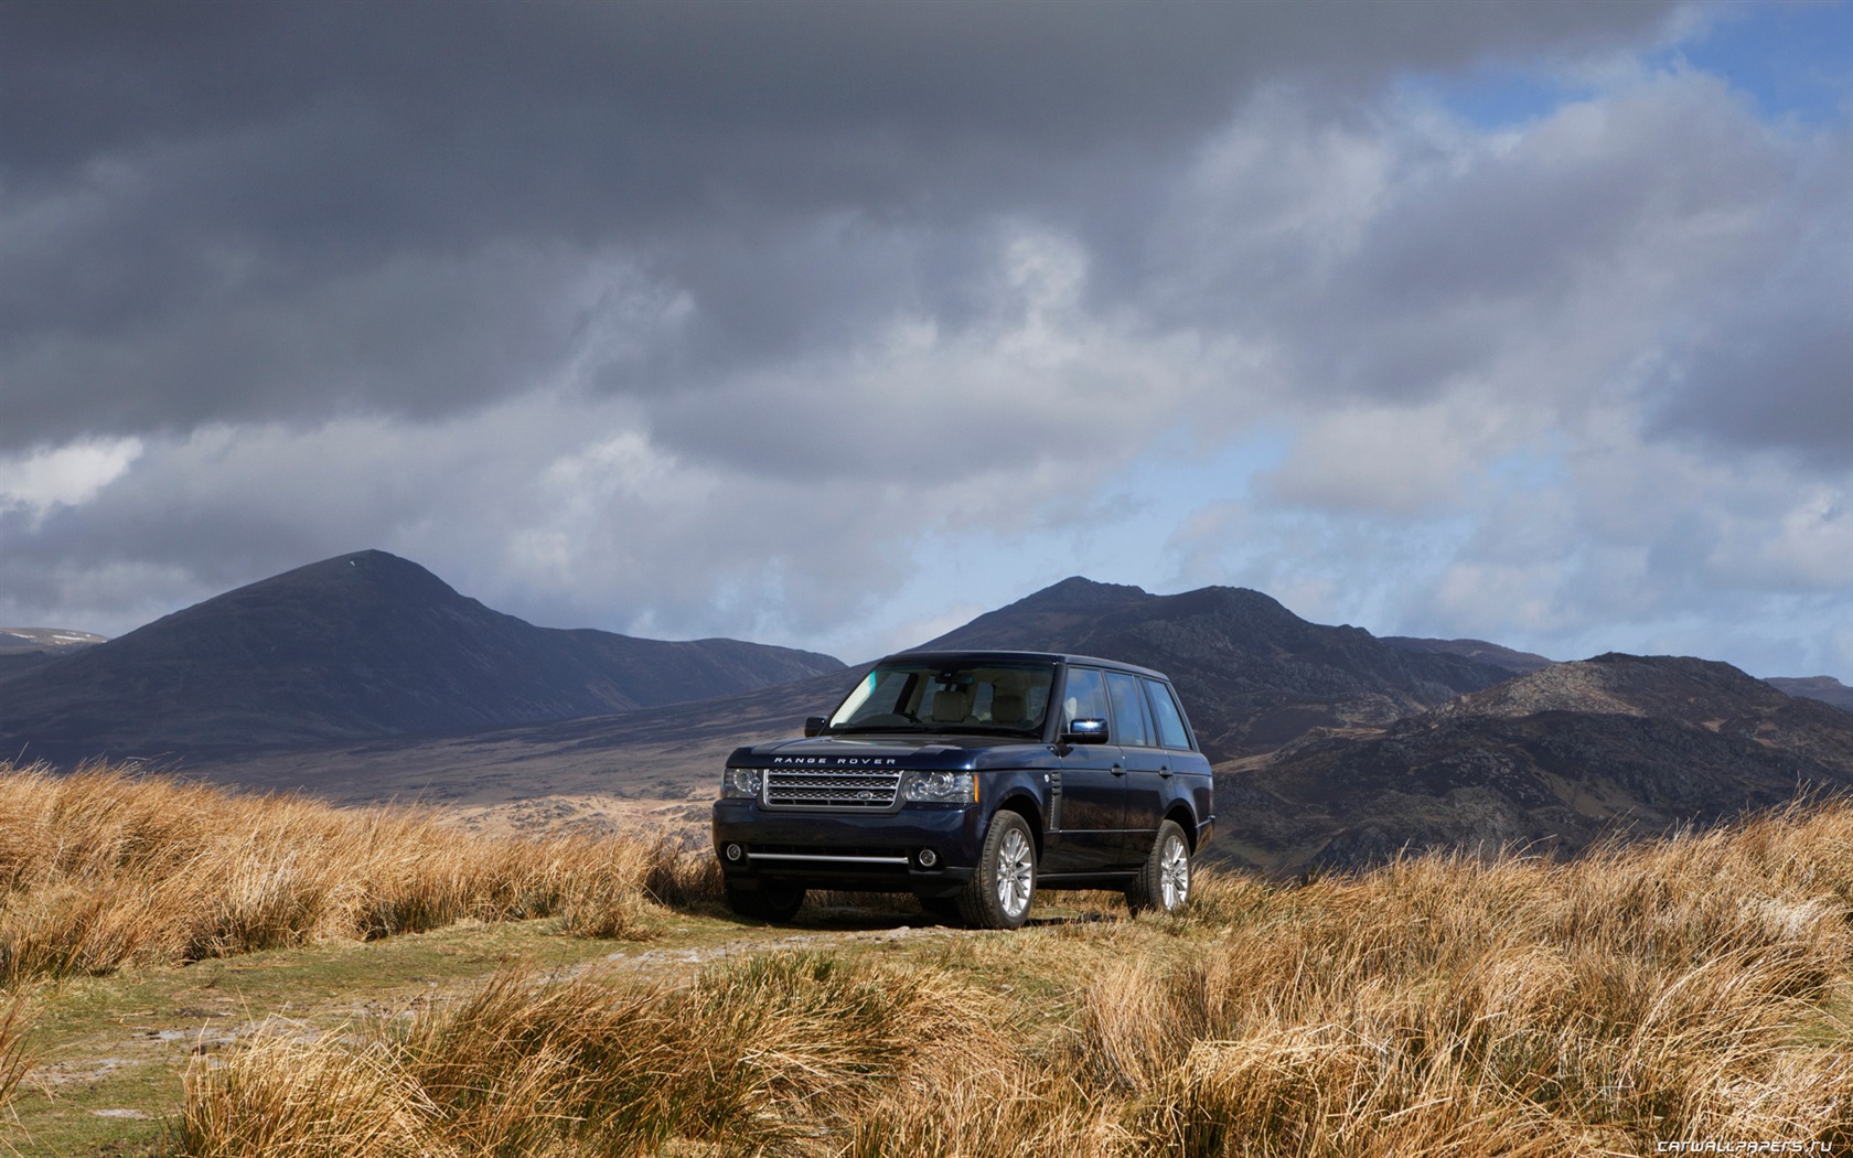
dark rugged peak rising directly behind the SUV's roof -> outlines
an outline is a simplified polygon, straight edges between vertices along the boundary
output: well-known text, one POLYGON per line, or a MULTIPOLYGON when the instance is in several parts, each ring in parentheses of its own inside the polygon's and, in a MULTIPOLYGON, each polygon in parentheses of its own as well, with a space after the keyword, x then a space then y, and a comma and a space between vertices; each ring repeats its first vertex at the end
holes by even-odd
POLYGON ((1171 676, 1212 760, 1267 752, 1310 728, 1380 726, 1512 676, 1364 628, 1306 623, 1247 587, 1147 595, 1067 578, 921 645, 1080 652, 1171 676))

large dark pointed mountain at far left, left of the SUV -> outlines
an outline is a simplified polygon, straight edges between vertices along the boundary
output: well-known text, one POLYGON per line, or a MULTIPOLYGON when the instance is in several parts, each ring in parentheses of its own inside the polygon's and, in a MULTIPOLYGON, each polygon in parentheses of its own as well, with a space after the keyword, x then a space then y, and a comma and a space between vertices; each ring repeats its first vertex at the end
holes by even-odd
POLYGON ((0 745, 67 763, 222 758, 712 699, 841 667, 734 639, 537 628, 363 550, 7 680, 0 745))

